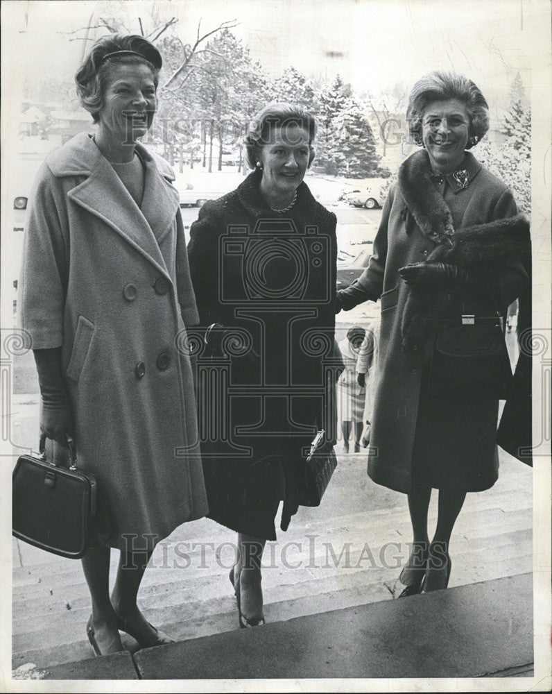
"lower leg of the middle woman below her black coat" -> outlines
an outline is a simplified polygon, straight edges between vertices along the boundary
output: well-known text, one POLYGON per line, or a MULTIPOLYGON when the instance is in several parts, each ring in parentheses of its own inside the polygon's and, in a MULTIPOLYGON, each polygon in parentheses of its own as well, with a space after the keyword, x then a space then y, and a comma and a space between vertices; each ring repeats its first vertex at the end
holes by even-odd
POLYGON ((234 565, 234 586, 241 613, 249 622, 263 619, 261 559, 266 540, 238 533, 238 557, 234 565))

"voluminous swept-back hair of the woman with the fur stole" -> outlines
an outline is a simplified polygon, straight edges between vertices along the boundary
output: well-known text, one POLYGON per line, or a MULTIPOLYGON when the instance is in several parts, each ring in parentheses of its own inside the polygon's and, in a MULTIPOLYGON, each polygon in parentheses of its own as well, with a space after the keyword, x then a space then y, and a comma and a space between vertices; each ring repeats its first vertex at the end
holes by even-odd
POLYGON ((408 97, 406 119, 408 132, 417 145, 422 144, 422 119, 433 101, 458 99, 465 104, 469 115, 469 135, 466 149, 485 135, 489 129, 489 105, 479 87, 463 75, 435 71, 424 75, 412 87, 408 97))

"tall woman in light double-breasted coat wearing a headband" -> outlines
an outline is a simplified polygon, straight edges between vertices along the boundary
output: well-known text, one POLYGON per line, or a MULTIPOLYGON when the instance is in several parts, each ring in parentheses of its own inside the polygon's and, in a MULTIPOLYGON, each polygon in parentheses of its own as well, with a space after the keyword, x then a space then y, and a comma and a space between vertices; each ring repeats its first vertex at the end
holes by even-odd
POLYGON ((76 75, 94 122, 40 169, 26 226, 21 324, 42 393, 41 431, 103 499, 83 558, 96 654, 171 641, 136 598, 155 544, 205 516, 186 325, 198 322, 169 164, 137 142, 153 121, 161 56, 142 37, 98 40, 76 75), (60 444, 60 445, 58 445, 60 444), (121 550, 110 598, 110 547, 121 550))

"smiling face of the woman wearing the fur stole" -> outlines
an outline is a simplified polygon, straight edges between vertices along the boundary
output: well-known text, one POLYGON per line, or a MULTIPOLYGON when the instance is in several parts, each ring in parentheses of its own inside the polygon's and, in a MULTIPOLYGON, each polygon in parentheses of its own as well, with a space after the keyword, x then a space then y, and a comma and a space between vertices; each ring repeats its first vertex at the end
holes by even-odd
POLYGON ((433 101, 422 119, 422 140, 435 172, 447 174, 464 159, 469 138, 467 108, 458 99, 433 101))

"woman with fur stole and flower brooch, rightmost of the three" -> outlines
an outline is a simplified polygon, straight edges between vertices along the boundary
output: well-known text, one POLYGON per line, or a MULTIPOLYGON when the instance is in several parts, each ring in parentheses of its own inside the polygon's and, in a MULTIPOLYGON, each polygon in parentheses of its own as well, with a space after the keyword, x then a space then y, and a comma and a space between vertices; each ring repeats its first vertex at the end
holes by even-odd
POLYGON ((402 596, 447 587, 465 495, 497 480, 499 399, 512 387, 501 316, 528 294, 531 260, 512 192, 466 151, 489 127, 478 87, 426 75, 407 118, 423 149, 399 169, 368 268, 338 291, 344 310, 381 298, 368 474, 408 494, 413 545, 402 596), (439 503, 430 543, 431 489, 439 503))

